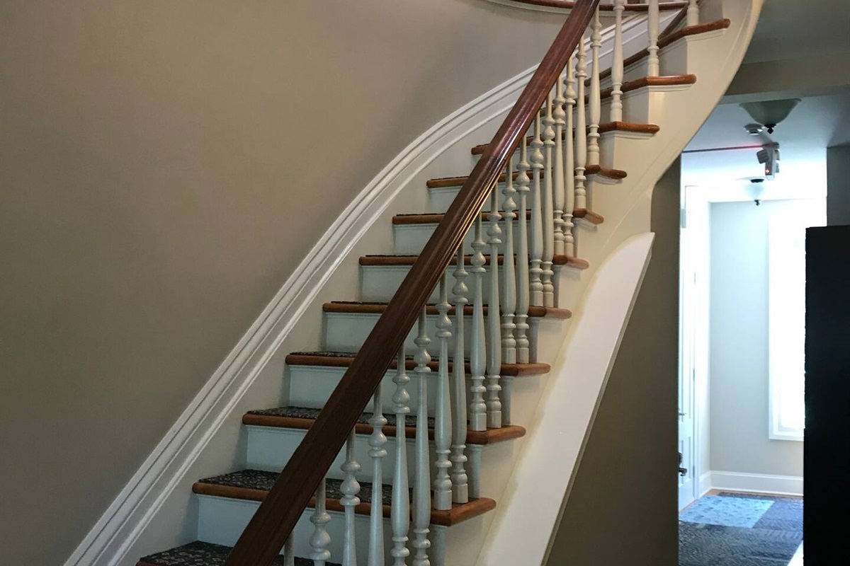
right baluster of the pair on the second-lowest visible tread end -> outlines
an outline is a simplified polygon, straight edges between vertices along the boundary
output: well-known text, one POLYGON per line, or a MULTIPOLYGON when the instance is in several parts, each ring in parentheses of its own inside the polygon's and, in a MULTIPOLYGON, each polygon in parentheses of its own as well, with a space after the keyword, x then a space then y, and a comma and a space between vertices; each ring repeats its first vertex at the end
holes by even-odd
MULTIPOLYGON (((508 171, 507 177, 512 172, 508 171)), ((487 301, 487 325, 490 330, 490 343, 487 355, 487 427, 490 429, 501 428, 501 400, 499 398, 501 385, 499 385, 499 374, 501 373, 501 313, 499 311, 499 247, 501 246, 501 227, 499 221, 499 191, 494 186, 490 192, 490 214, 487 215, 490 228, 487 235, 490 237, 490 298, 487 301)))

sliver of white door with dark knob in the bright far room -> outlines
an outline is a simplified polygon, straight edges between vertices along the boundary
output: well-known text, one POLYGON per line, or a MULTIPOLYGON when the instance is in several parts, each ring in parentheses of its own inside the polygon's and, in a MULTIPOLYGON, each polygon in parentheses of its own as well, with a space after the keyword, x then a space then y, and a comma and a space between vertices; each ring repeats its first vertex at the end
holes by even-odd
MULTIPOLYGON (((696 475, 696 439, 694 436, 695 381, 694 331, 696 320, 696 269, 694 262, 694 227, 689 223, 690 215, 683 214, 680 249, 679 280, 679 454, 682 462, 677 474, 679 486, 679 510, 689 506, 697 497, 699 482, 696 475)), ((704 321, 703 321, 704 322, 704 321)))

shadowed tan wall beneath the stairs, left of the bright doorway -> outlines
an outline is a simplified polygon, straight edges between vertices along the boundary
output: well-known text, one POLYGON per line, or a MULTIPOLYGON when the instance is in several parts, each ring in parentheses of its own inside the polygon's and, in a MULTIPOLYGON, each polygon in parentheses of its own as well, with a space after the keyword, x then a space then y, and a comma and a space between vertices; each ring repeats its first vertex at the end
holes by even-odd
POLYGON ((548 566, 677 564, 679 163, 655 186, 652 258, 548 566))

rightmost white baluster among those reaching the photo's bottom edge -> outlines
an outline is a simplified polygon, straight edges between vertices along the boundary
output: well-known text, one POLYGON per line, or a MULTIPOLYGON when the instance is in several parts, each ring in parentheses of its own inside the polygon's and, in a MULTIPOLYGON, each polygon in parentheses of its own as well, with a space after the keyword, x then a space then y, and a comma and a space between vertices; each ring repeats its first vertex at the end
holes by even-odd
POLYGON ((426 309, 419 314, 416 344, 416 378, 419 379, 419 405, 416 408, 416 477, 413 484, 413 566, 430 566, 428 525, 431 524, 431 464, 428 459, 428 338, 426 309))

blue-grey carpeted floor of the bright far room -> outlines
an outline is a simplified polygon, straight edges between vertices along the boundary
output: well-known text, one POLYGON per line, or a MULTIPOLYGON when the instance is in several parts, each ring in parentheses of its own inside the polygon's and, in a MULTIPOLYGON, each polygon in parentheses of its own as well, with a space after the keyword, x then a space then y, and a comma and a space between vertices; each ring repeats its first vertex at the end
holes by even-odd
POLYGON ((679 515, 679 566, 786 566, 802 542, 802 499, 721 492, 679 515))

